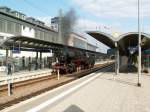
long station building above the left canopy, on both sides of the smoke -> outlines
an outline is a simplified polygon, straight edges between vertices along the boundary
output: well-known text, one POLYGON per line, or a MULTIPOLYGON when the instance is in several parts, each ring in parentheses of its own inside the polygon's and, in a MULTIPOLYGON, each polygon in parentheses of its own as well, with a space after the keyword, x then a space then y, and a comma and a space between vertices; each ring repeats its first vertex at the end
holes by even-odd
MULTIPOLYGON (((8 7, 0 7, 0 42, 9 37, 19 35, 58 43, 58 23, 56 26, 56 22, 58 21, 55 20, 54 22, 54 19, 52 19, 52 26, 55 24, 55 28, 48 27, 44 22, 33 17, 27 17, 25 14, 18 11, 13 11, 8 7)), ((71 46, 75 45, 74 47, 88 50, 93 49, 96 51, 95 45, 90 44, 87 42, 86 37, 83 37, 83 35, 81 36, 74 31, 70 34, 70 37, 67 40, 67 43, 62 42, 61 44, 71 46), (70 44, 71 40, 73 40, 73 44, 70 44), (81 46, 81 44, 83 46, 81 46)))

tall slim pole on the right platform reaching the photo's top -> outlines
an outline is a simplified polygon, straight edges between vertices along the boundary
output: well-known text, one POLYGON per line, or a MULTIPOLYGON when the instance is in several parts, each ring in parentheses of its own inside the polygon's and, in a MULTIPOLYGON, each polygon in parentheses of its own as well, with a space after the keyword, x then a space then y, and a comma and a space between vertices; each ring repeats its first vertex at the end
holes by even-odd
POLYGON ((140 87, 140 76, 141 76, 141 31, 140 31, 140 0, 138 0, 138 83, 137 86, 140 87))

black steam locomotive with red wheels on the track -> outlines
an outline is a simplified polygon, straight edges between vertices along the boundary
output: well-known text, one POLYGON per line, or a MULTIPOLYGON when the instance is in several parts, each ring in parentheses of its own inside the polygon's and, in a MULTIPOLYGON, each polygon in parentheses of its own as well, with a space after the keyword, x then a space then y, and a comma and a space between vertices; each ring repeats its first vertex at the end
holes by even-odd
POLYGON ((78 69, 90 69, 95 64, 95 54, 79 49, 61 49, 55 53, 57 62, 53 68, 59 69, 60 74, 73 73, 78 69))

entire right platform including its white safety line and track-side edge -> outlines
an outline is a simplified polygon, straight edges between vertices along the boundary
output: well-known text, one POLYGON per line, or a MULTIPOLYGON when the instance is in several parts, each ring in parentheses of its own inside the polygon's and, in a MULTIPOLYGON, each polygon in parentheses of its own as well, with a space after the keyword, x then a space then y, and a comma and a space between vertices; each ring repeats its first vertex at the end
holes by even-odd
POLYGON ((2 112, 149 112, 150 74, 115 75, 109 68, 21 102, 2 112))

